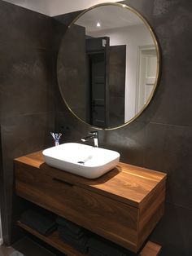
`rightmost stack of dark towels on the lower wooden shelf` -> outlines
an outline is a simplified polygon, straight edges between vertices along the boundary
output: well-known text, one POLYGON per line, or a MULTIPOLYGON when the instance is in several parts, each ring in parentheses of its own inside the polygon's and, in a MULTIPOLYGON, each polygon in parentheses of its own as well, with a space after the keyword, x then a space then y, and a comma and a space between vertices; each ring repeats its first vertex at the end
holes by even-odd
POLYGON ((88 246, 90 256, 129 256, 124 249, 101 237, 91 237, 88 246))

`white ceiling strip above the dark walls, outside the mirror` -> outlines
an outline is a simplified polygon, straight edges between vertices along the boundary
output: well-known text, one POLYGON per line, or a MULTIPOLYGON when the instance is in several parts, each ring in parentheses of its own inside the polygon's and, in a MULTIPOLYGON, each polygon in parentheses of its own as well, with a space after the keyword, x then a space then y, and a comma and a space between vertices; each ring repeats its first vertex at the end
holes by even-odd
POLYGON ((87 9, 102 2, 120 2, 116 0, 3 0, 17 6, 37 11, 48 16, 61 15, 72 11, 87 9))

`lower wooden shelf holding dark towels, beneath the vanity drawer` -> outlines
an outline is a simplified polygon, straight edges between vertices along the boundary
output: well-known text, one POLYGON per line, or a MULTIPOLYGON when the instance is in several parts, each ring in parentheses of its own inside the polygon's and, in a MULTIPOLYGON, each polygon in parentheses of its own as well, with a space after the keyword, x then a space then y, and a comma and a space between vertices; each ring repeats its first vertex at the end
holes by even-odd
MULTIPOLYGON (((72 246, 64 243, 59 240, 59 233, 57 231, 53 232, 50 236, 43 236, 39 232, 35 231, 33 228, 28 227, 24 223, 20 221, 17 222, 17 225, 22 227, 25 231, 31 233, 33 236, 37 236, 42 241, 45 241, 48 245, 59 249, 63 254, 67 254, 68 256, 85 256, 88 254, 81 254, 76 249, 72 248, 72 246)), ((138 254, 139 256, 158 256, 160 252, 161 246, 151 241, 148 241, 142 251, 138 254)))

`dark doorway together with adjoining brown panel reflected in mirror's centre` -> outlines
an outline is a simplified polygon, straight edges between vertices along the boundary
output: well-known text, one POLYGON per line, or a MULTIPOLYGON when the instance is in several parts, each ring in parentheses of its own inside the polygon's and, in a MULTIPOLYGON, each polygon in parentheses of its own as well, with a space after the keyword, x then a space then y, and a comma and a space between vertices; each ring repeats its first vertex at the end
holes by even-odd
POLYGON ((86 83, 90 105, 87 122, 111 127, 124 123, 126 46, 110 46, 110 38, 87 38, 86 83))

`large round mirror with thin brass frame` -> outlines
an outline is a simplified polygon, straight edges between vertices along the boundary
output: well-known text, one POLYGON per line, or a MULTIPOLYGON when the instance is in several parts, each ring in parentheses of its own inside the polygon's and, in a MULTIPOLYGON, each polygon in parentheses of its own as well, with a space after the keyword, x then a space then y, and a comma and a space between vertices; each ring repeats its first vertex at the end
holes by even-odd
POLYGON ((159 46, 133 8, 100 4, 68 27, 57 72, 63 100, 76 117, 90 126, 116 129, 150 103, 159 77, 159 46))

